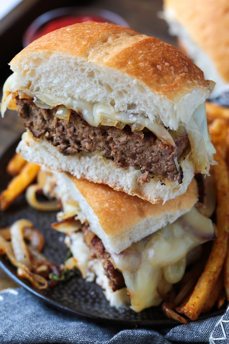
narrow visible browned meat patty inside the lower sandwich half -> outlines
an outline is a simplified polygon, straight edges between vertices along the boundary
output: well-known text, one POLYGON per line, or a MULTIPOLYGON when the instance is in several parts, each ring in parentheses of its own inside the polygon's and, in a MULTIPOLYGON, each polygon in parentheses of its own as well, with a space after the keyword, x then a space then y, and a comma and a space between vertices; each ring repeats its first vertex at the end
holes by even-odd
POLYGON ((98 258, 103 268, 105 269, 106 275, 110 280, 110 285, 113 291, 121 289, 125 287, 124 278, 122 273, 114 269, 114 266, 111 262, 110 254, 107 252, 105 247, 103 246, 102 241, 91 232, 89 226, 83 225, 82 227, 84 241, 90 249, 91 258, 98 258))

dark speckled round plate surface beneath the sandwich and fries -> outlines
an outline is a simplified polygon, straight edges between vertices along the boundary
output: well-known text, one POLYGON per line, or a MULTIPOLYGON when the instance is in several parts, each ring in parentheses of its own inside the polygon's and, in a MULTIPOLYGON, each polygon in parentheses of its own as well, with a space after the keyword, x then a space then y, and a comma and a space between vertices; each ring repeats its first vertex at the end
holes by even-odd
MULTIPOLYGON (((3 190, 10 176, 6 173, 6 165, 15 151, 17 143, 13 144, 0 158, 0 191, 3 190)), ((19 218, 31 220, 35 228, 39 229, 45 237, 44 255, 54 261, 57 265, 61 264, 66 257, 67 249, 63 243, 64 235, 50 228, 50 224, 55 221, 54 212, 38 212, 30 208, 25 201, 24 195, 21 195, 6 212, 0 211, 0 227, 12 224, 19 218)), ((35 296, 49 305, 71 314, 84 316, 95 321, 107 321, 125 326, 174 326, 176 321, 167 319, 160 307, 153 307, 140 313, 131 310, 119 312, 109 306, 103 292, 95 283, 89 283, 83 280, 80 275, 67 282, 59 283, 55 288, 48 290, 37 290, 24 279, 16 276, 16 269, 11 266, 3 256, 0 256, 1 268, 16 282, 19 286, 25 288, 35 296)), ((205 314, 205 318, 222 313, 214 311, 205 314)), ((203 316, 201 316, 203 318, 203 316)))

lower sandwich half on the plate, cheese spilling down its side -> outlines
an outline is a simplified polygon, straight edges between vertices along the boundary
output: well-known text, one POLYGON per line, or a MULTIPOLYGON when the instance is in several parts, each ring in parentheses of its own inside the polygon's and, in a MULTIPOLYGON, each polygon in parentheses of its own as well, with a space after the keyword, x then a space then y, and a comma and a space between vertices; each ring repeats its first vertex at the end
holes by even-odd
POLYGON ((42 171, 39 183, 62 203, 53 227, 68 232, 77 268, 87 280, 95 277, 117 308, 130 304, 140 312, 159 305, 182 278, 191 252, 197 258, 193 250, 214 235, 211 220, 195 207, 195 179, 164 205, 66 173, 42 171))

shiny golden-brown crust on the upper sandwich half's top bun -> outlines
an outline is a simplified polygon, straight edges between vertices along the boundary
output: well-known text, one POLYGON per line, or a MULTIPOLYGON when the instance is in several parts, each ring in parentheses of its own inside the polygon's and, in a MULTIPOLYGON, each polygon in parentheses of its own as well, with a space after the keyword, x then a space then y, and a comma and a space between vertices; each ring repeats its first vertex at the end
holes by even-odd
POLYGON ((115 68, 173 100, 196 87, 207 89, 203 72, 174 46, 109 23, 85 22, 48 33, 16 55, 12 69, 17 71, 34 52, 47 57, 58 52, 115 68))

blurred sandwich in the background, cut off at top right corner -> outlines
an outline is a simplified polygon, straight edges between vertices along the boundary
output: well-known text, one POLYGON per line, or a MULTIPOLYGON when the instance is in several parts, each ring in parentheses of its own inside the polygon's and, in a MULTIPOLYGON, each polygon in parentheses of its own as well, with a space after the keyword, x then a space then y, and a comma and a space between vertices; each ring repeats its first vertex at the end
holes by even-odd
POLYGON ((179 47, 216 82, 211 98, 229 92, 228 1, 164 0, 164 18, 179 47))

